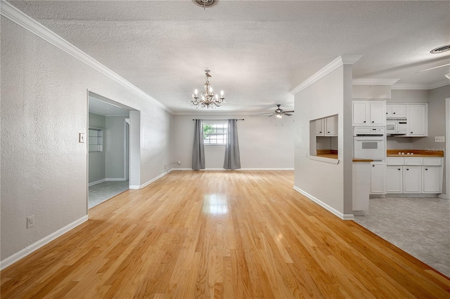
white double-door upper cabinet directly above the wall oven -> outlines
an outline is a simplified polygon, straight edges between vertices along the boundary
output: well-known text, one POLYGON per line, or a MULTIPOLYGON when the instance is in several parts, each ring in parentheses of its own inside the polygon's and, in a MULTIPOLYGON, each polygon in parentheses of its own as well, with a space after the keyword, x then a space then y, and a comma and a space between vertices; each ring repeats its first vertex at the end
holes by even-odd
POLYGON ((385 126, 386 102, 381 100, 353 101, 354 126, 385 126))

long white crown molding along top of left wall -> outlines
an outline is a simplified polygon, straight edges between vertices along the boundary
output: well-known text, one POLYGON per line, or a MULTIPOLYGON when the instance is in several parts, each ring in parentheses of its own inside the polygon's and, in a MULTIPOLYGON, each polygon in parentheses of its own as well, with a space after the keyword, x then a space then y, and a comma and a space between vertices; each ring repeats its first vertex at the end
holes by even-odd
POLYGON ((121 84, 125 88, 128 88, 130 91, 133 91, 134 93, 137 93, 141 97, 146 98, 146 100, 153 102, 153 104, 157 105, 161 109, 164 109, 170 114, 174 114, 174 112, 171 109, 169 109, 169 107, 162 104, 155 98, 150 97, 150 95, 141 91, 141 89, 137 88, 129 81, 120 77, 118 74, 113 72, 111 69, 108 69, 108 67, 105 67, 94 58, 91 58, 91 56, 87 55, 76 46, 70 44, 68 41, 63 39, 55 32, 51 31, 47 27, 44 27, 44 25, 41 25, 41 23, 30 18, 28 15, 25 15, 25 13, 19 11, 18 8, 15 8, 13 5, 9 4, 5 0, 0 0, 0 14, 3 15, 8 20, 15 22, 15 24, 19 25, 20 27, 23 27, 32 34, 39 36, 41 39, 44 39, 45 41, 48 41, 53 46, 60 48, 61 50, 65 51, 65 53, 68 53, 73 57, 77 58, 78 60, 86 63, 86 65, 89 65, 90 67, 96 69, 98 72, 101 72, 106 77, 113 79, 118 84, 121 84))

